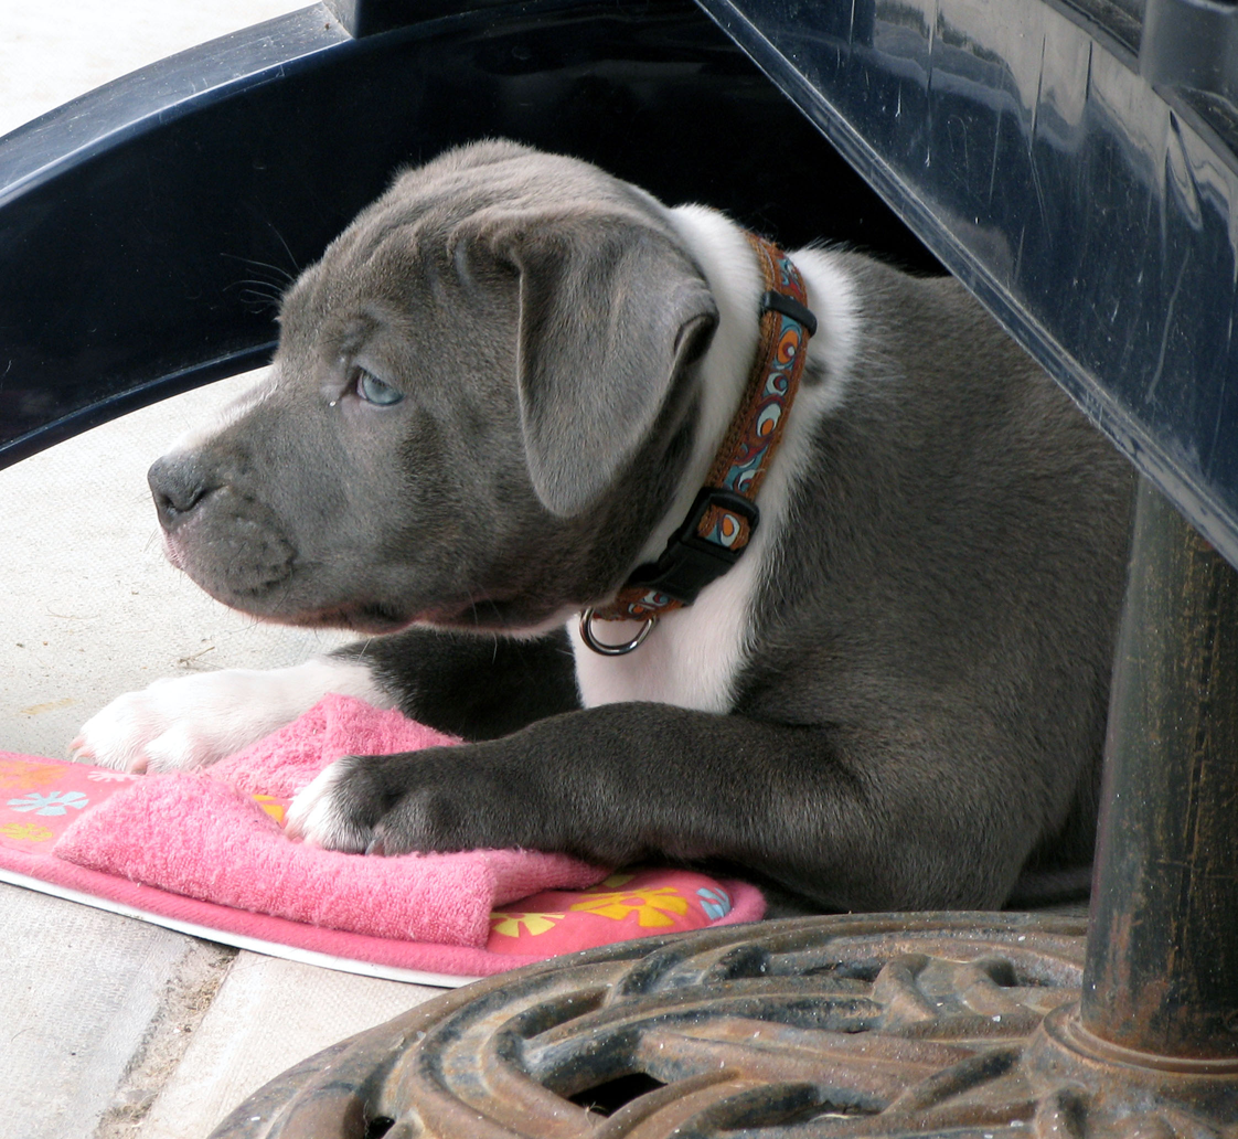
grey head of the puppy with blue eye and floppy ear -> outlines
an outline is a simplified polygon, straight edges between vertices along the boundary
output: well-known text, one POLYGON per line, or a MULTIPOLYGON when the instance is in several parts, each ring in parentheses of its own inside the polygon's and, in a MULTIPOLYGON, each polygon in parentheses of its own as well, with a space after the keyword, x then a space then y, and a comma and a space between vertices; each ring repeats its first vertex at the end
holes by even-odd
POLYGON ((665 510, 717 310, 649 196, 493 142, 402 175, 280 319, 266 384, 151 468, 172 560, 271 620, 527 630, 665 510))

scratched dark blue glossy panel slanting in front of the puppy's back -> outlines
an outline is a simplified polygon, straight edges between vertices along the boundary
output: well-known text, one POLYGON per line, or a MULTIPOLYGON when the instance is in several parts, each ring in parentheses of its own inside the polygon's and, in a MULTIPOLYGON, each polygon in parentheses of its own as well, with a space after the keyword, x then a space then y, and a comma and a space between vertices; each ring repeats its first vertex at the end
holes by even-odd
POLYGON ((1238 9, 702 4, 1238 562, 1238 9))

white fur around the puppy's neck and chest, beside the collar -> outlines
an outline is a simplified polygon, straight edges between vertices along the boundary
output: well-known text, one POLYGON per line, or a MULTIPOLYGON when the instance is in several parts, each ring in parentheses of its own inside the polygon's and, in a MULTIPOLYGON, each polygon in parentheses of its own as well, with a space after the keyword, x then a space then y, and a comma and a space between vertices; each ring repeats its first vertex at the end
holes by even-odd
MULTIPOLYGON (((662 552, 704 484, 748 381, 764 287, 747 240, 722 214, 690 206, 670 210, 669 217, 709 281, 719 322, 699 365, 702 401, 692 461, 671 510, 643 551, 643 562, 662 552)), ((734 568, 703 589, 695 604, 664 617, 645 643, 625 656, 593 652, 581 638, 578 623, 569 623, 577 685, 587 708, 654 701, 702 712, 730 711, 735 681, 750 650, 756 591, 776 550, 795 484, 811 462, 816 426, 843 400, 855 348, 854 288, 837 260, 822 250, 800 250, 792 260, 807 285, 818 328, 808 345, 803 381, 782 443, 756 499, 756 534, 734 568)), ((629 640, 638 629, 628 621, 594 625, 602 640, 614 643, 629 640)))

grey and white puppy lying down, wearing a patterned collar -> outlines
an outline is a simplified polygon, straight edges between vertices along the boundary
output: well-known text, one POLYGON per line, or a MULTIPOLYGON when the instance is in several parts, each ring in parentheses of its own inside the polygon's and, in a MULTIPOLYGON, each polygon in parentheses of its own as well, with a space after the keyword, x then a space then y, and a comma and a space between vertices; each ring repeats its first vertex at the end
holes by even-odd
POLYGON ((402 175, 288 292, 270 378, 150 475, 212 595, 370 638, 157 682, 77 754, 206 764, 335 691, 472 742, 334 763, 292 810, 324 847, 714 860, 855 910, 1086 864, 1128 467, 956 281, 792 259, 820 329, 755 537, 600 656, 579 612, 662 551, 738 406, 755 254, 508 142, 402 175))

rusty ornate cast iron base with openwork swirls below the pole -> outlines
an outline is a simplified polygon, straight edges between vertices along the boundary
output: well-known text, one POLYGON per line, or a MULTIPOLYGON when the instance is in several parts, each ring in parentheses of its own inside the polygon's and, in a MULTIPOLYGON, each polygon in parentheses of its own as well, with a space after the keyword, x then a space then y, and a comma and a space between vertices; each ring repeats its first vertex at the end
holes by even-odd
POLYGON ((1083 1029, 1083 935, 900 914, 593 950, 335 1045, 214 1139, 1238 1139, 1238 1062, 1083 1029))

